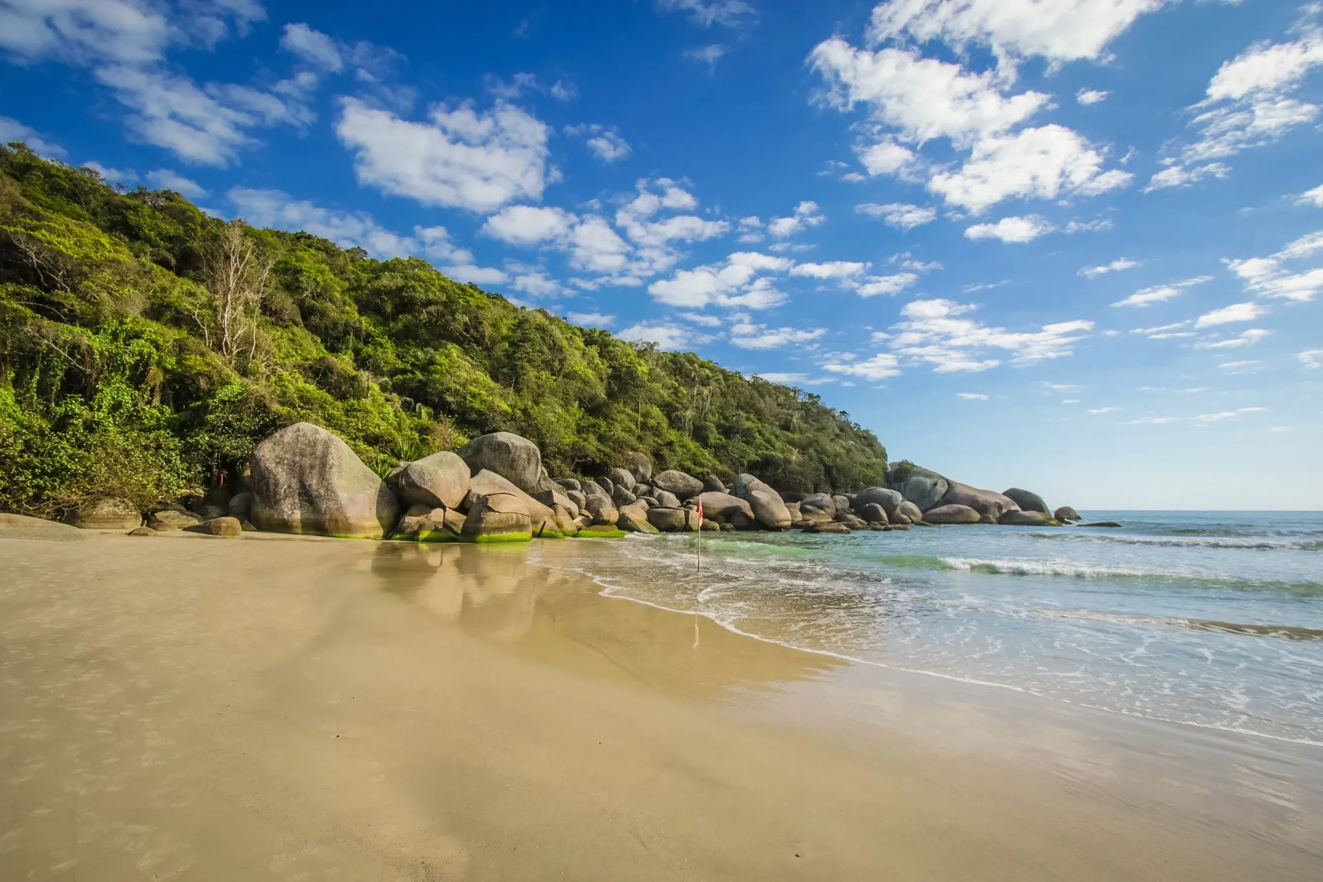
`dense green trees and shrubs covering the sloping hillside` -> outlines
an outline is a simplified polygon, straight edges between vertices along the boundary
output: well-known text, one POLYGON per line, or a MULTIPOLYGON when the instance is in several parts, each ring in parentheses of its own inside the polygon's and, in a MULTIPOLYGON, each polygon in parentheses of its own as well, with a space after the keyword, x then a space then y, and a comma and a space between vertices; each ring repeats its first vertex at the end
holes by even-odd
POLYGON ((148 508, 233 480, 298 421, 378 472, 505 430, 552 475, 626 451, 783 489, 881 483, 886 451, 816 395, 373 261, 119 193, 0 147, 0 509, 148 508))

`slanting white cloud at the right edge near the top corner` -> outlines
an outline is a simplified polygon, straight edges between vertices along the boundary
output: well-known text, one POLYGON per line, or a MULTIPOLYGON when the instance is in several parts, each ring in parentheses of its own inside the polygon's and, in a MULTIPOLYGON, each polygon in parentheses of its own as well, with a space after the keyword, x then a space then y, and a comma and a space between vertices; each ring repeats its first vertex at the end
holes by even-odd
POLYGON ((1170 163, 1179 164, 1155 175, 1147 189, 1176 186, 1209 175, 1224 177, 1226 165, 1215 160, 1271 144, 1318 118, 1318 104, 1298 100, 1293 93, 1323 65, 1323 29, 1302 24, 1295 30, 1297 40, 1259 41, 1222 63, 1204 99, 1188 108, 1197 139, 1170 157, 1170 163))

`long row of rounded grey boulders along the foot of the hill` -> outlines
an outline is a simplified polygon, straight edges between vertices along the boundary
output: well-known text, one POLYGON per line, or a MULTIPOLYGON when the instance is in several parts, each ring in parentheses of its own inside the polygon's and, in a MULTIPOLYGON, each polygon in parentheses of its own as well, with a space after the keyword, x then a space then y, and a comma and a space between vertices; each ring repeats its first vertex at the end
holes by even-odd
POLYGON ((537 444, 512 432, 491 432, 458 451, 401 461, 381 477, 333 432, 303 422, 266 438, 242 473, 205 496, 149 512, 126 500, 98 499, 66 520, 134 536, 263 530, 414 542, 699 530, 848 534, 962 524, 1060 526, 1081 520, 1070 506, 1049 509, 1031 491, 980 489, 908 461, 892 464, 882 487, 803 493, 781 492, 749 473, 726 487, 716 475, 654 471, 652 461, 634 451, 615 459, 594 475, 552 477, 537 444))

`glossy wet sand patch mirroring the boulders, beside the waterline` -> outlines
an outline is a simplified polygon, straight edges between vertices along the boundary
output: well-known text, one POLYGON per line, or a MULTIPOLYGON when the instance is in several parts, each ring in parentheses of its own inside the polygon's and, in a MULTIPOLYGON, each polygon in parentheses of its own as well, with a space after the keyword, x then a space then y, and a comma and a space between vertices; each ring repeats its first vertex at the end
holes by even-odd
MULTIPOLYGON (((574 545, 572 550, 587 551, 585 542, 574 545)), ((384 542, 370 569, 386 591, 466 633, 508 644, 542 664, 626 677, 665 694, 710 698, 732 689, 763 690, 845 664, 750 640, 705 618, 603 603, 593 582, 531 563, 523 547, 384 542)))

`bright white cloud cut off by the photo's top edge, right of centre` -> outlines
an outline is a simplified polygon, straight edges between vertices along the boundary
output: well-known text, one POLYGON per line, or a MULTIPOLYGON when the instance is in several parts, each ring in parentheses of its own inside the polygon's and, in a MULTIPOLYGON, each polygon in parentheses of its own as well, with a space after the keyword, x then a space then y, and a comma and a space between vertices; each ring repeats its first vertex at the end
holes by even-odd
POLYGON ((1163 0, 893 0, 873 9, 875 42, 909 36, 953 48, 982 44, 1003 62, 1041 56, 1061 63, 1099 58, 1107 44, 1163 0))

